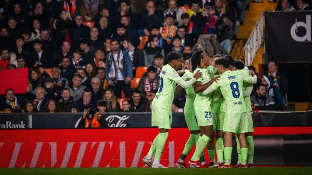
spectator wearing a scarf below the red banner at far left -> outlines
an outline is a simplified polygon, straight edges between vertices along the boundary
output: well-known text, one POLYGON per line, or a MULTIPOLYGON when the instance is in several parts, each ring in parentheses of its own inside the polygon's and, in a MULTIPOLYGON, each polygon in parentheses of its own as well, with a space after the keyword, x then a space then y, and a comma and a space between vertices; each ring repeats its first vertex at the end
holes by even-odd
POLYGON ((23 96, 16 96, 13 89, 9 88, 5 90, 4 97, 5 98, 1 100, 1 108, 4 105, 10 105, 13 112, 21 112, 21 109, 24 107, 26 101, 23 96))

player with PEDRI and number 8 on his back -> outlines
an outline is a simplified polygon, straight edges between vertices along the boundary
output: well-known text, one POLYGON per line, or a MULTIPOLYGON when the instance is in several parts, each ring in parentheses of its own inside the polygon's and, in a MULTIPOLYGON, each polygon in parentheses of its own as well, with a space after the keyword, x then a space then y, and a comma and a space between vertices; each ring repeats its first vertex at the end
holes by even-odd
POLYGON ((221 89, 221 93, 226 101, 226 115, 224 118, 224 159, 225 163, 220 168, 232 168, 232 135, 237 133, 241 146, 242 162, 238 167, 247 167, 247 144, 243 131, 247 127, 244 122, 247 117, 247 108, 243 99, 243 82, 254 84, 257 77, 253 71, 250 75, 245 75, 239 71, 229 69, 229 59, 220 58, 215 62, 218 72, 221 74, 220 80, 214 82, 209 88, 203 91, 203 95, 209 95, 217 88, 221 89))

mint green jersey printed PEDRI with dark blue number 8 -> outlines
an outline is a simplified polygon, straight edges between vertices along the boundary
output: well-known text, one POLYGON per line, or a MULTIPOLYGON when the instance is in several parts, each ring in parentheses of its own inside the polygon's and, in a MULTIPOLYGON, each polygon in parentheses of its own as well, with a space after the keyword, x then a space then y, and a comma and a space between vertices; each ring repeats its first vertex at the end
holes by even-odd
POLYGON ((218 82, 211 86, 215 90, 220 87, 221 93, 226 102, 227 114, 247 112, 247 107, 243 97, 243 82, 255 82, 253 77, 245 75, 240 71, 225 71, 220 75, 218 82))

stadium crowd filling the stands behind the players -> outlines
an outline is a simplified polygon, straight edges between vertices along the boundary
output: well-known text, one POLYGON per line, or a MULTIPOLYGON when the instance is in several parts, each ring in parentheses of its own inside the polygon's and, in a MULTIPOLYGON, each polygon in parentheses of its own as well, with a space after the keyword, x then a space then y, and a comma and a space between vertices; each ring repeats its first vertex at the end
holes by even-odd
MULTIPOLYGON (((196 50, 231 53, 241 13, 240 0, 148 0, 139 14, 129 0, 3 0, 0 70, 27 68, 29 78, 27 93, 6 90, 0 110, 83 112, 93 104, 100 112, 151 111, 166 55, 185 61, 196 50), (139 67, 148 67, 140 77, 139 67)), ((276 62, 252 95, 256 109, 283 110, 287 79, 276 62)), ((174 112, 183 112, 185 99, 177 90, 174 112)))

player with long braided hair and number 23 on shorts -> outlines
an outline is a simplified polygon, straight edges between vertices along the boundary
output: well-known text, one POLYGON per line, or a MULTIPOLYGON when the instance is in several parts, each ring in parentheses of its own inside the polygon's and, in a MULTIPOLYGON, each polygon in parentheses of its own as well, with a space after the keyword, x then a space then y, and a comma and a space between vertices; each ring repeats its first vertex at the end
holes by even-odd
MULTIPOLYGON (((214 78, 216 69, 209 66, 209 57, 203 51, 196 51, 192 56, 192 69, 195 72, 200 71, 203 73, 201 78, 198 78, 194 84, 194 90, 196 93, 194 101, 194 109, 198 126, 200 128, 200 137, 196 143, 196 149, 193 157, 189 160, 189 164, 192 168, 203 168, 200 157, 206 148, 208 142, 213 139, 213 114, 211 110, 212 95, 203 95, 202 90, 208 88, 218 77, 214 78)), ((208 150, 209 157, 213 161, 215 159, 215 149, 208 150), (213 154, 212 154, 213 152, 213 154)))

